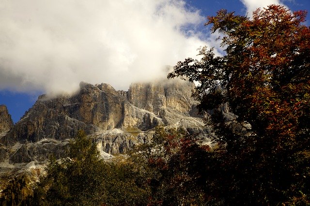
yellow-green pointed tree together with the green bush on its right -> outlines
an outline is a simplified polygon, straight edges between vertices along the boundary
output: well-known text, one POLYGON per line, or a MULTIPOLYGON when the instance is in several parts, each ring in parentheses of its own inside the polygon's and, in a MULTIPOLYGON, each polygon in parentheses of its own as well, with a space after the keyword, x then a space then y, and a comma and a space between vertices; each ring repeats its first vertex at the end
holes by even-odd
POLYGON ((70 142, 68 158, 51 158, 34 189, 33 205, 141 205, 145 190, 137 186, 131 165, 104 162, 84 132, 70 142))

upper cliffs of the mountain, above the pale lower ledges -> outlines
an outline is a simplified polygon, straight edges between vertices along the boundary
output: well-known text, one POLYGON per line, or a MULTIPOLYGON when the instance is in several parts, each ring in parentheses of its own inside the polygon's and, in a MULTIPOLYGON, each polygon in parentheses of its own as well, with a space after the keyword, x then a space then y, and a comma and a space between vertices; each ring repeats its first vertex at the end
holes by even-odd
POLYGON ((72 96, 41 95, 1 143, 63 140, 74 137, 78 130, 92 134, 114 128, 136 127, 146 131, 157 125, 171 125, 180 118, 193 116, 197 104, 191 98, 193 88, 185 81, 166 80, 132 84, 125 92, 108 84, 82 82, 80 91, 72 96))

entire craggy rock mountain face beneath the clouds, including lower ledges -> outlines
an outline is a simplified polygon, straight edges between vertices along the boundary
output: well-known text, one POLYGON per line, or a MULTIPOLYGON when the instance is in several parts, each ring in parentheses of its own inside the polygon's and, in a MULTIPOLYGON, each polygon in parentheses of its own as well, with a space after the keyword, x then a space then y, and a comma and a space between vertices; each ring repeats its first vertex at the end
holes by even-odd
POLYGON ((108 84, 80 83, 74 95, 39 96, 13 126, 5 106, 0 106, 0 162, 8 165, 44 162, 50 154, 64 157, 70 138, 84 130, 102 153, 125 153, 135 144, 152 139, 153 129, 183 127, 189 133, 210 137, 191 97, 194 84, 163 80, 131 84, 117 91, 108 84))

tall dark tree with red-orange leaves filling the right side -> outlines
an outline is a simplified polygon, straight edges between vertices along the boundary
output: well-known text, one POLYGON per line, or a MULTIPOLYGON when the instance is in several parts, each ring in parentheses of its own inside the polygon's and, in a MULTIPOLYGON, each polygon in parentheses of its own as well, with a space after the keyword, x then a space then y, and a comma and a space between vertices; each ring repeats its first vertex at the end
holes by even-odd
POLYGON ((213 110, 219 148, 212 163, 219 168, 210 171, 216 182, 210 192, 225 205, 310 203, 306 15, 279 5, 257 9, 252 19, 220 10, 205 25, 221 34, 225 55, 202 47, 200 60, 180 61, 168 75, 199 82, 193 94, 199 109, 213 110))

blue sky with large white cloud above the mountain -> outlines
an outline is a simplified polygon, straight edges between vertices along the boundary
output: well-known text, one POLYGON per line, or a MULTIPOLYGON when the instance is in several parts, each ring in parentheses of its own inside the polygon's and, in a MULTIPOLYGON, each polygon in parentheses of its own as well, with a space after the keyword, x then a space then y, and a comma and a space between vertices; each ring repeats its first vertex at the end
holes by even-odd
POLYGON ((200 46, 220 55, 206 16, 270 4, 310 10, 309 0, 0 0, 0 104, 17 122, 38 95, 81 81, 128 90, 165 77, 200 46))

